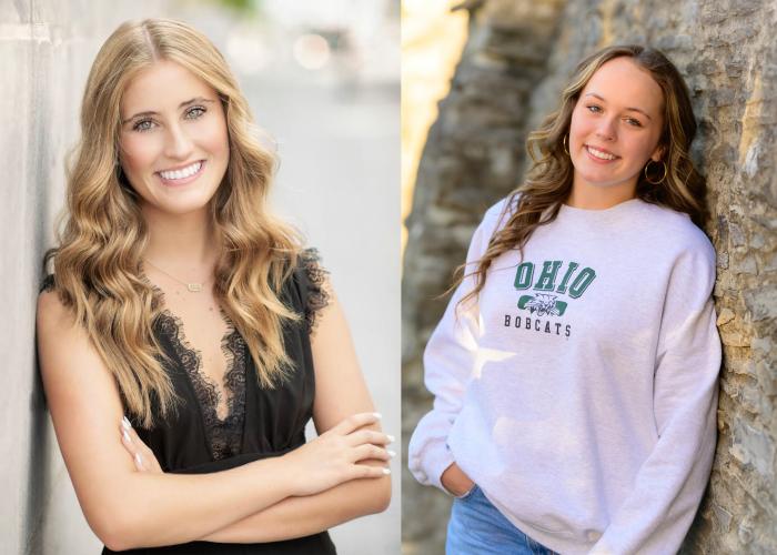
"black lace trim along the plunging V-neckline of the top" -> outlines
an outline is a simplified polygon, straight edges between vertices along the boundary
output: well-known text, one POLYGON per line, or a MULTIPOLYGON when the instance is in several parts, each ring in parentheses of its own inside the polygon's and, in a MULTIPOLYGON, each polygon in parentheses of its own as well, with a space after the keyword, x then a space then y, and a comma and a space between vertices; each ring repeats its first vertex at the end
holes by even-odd
MULTIPOLYGON (((164 293, 153 284, 152 287, 163 301, 164 293)), ((221 340, 221 351, 226 360, 223 390, 226 396, 224 420, 219 418, 218 413, 222 404, 221 391, 213 379, 202 371, 202 352, 189 343, 183 332, 183 321, 167 307, 162 309, 158 316, 161 333, 170 337, 173 350, 194 387, 214 461, 240 453, 245 420, 245 342, 223 309, 219 307, 219 312, 228 326, 221 340)))

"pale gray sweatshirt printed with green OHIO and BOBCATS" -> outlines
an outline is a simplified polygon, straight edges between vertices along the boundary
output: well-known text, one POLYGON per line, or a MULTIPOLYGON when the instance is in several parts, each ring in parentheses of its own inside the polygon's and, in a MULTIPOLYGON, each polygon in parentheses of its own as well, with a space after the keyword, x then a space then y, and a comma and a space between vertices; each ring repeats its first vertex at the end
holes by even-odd
MULTIPOLYGON (((505 206, 475 231, 467 273, 505 206)), ((455 461, 561 553, 676 553, 715 452, 714 284, 715 250, 686 214, 639 199, 562 205, 457 315, 473 279, 454 293, 424 353, 434 408, 411 472, 443 488, 455 461)))

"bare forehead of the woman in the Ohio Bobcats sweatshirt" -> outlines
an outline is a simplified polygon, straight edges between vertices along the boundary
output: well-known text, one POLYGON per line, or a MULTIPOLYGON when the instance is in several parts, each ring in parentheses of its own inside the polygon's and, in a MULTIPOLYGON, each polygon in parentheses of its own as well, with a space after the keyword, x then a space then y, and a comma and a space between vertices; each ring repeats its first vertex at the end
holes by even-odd
POLYGON ((597 94, 617 108, 639 108, 650 115, 659 115, 664 93, 653 75, 628 57, 605 62, 588 80, 581 98, 597 94))

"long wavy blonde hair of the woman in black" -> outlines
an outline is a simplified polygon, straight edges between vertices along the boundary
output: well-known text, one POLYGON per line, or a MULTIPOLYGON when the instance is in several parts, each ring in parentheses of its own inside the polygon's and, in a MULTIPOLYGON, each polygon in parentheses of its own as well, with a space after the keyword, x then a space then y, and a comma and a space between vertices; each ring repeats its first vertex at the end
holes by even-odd
MULTIPOLYGON (((154 425, 178 404, 153 334, 163 310, 142 274, 148 229, 138 194, 119 164, 120 102, 130 81, 159 60, 175 62, 208 83, 222 102, 230 160, 210 215, 221 254, 216 299, 243 336, 260 386, 273 387, 291 370, 283 326, 300 315, 281 300, 301 241, 268 211, 276 163, 255 137, 248 102, 224 58, 203 34, 170 20, 128 21, 105 41, 89 73, 81 105, 81 139, 68 168, 67 206, 53 259, 54 290, 88 332, 113 374, 127 410, 154 425)), ((61 221, 60 221, 61 223, 61 221)), ((58 225, 58 228, 60 228, 58 225)))

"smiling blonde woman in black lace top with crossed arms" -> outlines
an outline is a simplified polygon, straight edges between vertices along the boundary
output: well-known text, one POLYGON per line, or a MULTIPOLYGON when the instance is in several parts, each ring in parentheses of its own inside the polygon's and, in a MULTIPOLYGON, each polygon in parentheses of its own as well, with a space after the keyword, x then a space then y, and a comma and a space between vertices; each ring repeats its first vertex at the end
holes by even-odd
POLYGON ((122 24, 81 128, 38 346, 103 553, 334 553, 326 528, 386 508, 393 438, 315 253, 266 209, 225 61, 182 23, 122 24))

